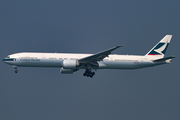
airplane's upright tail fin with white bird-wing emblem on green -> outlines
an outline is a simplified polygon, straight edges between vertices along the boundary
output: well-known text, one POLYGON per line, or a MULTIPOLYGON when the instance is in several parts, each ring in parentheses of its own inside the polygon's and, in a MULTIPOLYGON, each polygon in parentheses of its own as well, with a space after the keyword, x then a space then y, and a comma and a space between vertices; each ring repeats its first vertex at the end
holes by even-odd
POLYGON ((167 47, 171 41, 172 35, 166 35, 159 43, 157 43, 145 56, 157 56, 163 58, 167 47))

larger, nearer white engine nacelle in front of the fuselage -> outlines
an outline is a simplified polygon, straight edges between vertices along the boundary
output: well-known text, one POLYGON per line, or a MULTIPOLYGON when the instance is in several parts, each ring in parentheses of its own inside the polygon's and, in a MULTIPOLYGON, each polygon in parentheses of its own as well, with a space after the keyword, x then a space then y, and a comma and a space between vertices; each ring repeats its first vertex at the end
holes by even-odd
POLYGON ((75 69, 79 65, 77 60, 64 60, 63 68, 64 69, 75 69))

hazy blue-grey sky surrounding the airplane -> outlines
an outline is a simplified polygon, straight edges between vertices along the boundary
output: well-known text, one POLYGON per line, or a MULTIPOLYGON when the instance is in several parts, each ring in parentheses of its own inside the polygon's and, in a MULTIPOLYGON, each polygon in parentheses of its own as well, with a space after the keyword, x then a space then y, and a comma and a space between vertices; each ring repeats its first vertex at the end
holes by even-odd
POLYGON ((17 52, 146 54, 166 34, 173 63, 139 70, 14 69, 0 62, 1 120, 179 120, 180 1, 1 0, 0 58, 17 52))

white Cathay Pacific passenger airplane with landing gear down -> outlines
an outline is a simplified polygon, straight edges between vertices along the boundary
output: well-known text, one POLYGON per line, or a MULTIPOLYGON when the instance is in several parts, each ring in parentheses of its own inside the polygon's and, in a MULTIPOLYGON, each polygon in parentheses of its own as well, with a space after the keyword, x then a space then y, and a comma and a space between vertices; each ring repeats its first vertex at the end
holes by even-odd
POLYGON ((139 69, 153 67, 172 62, 175 56, 164 57, 172 35, 166 35, 146 55, 116 55, 111 54, 122 45, 115 46, 96 54, 73 53, 35 53, 22 52, 8 55, 3 62, 17 67, 55 67, 62 74, 72 74, 79 69, 85 69, 83 76, 92 78, 97 69, 139 69))

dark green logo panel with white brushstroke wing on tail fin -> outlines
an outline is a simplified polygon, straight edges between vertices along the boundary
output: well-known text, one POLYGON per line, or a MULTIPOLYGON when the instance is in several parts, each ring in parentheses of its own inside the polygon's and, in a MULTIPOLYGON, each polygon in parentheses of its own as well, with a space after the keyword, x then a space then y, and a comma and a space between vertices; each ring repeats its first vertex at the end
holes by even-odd
POLYGON ((148 55, 164 55, 169 43, 159 43, 148 55))

